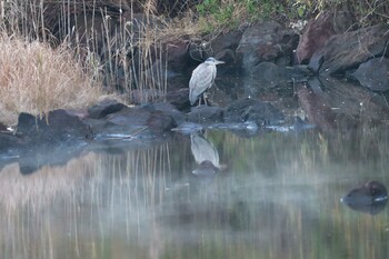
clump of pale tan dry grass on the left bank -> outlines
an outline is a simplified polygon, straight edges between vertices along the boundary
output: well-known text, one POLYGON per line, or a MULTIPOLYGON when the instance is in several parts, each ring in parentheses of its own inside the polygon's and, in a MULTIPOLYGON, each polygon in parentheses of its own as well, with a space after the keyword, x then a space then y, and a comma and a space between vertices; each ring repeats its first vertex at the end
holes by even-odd
POLYGON ((101 84, 61 46, 0 36, 0 121, 13 124, 20 112, 43 114, 82 108, 103 94, 101 84))

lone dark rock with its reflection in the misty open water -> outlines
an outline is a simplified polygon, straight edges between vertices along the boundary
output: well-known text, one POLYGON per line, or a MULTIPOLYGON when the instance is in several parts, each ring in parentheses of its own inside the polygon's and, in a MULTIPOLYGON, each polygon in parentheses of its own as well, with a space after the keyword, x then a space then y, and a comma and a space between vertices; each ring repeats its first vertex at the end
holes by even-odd
POLYGON ((388 191, 381 182, 368 181, 363 186, 352 189, 340 200, 353 210, 377 215, 383 210, 388 202, 388 191))

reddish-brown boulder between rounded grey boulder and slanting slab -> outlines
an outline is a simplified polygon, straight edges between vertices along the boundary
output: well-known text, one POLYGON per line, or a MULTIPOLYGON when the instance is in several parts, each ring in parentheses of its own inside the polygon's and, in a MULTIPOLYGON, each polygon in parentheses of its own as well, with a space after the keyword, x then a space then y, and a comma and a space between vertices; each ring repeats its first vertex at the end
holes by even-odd
POLYGON ((308 21, 296 56, 299 63, 308 63, 312 54, 320 50, 333 34, 342 33, 351 28, 350 13, 343 11, 328 11, 308 21))

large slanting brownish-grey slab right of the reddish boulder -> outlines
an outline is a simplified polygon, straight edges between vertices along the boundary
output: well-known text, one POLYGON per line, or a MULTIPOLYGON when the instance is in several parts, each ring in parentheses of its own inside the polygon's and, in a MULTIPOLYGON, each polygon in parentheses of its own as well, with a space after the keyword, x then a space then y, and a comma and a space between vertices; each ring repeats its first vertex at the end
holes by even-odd
POLYGON ((326 46, 315 53, 321 60, 319 72, 322 74, 342 74, 346 70, 356 69, 371 58, 388 54, 389 24, 378 24, 357 31, 332 36, 326 46))

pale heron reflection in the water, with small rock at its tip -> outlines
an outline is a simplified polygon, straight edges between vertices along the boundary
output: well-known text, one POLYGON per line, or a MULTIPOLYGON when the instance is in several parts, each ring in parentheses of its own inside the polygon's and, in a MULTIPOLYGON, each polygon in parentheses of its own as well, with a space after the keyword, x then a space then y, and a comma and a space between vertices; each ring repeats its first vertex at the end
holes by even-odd
POLYGON ((213 143, 202 137, 200 133, 190 136, 190 147, 196 162, 199 165, 193 175, 213 176, 216 172, 223 170, 226 166, 219 162, 219 152, 213 143))

